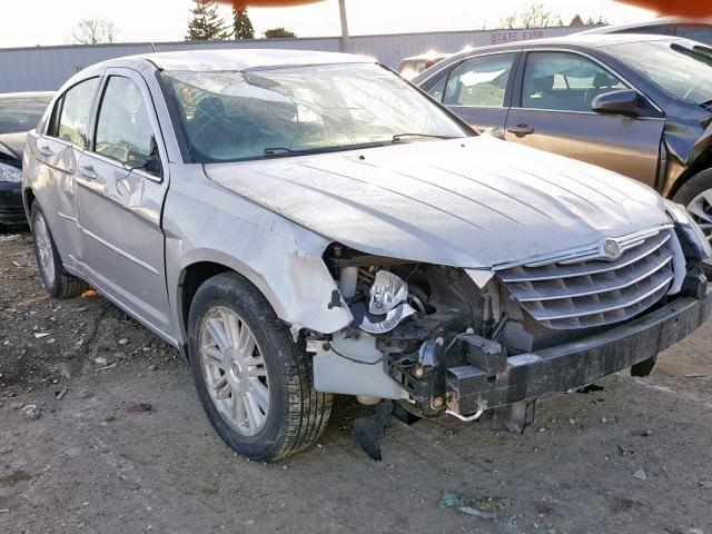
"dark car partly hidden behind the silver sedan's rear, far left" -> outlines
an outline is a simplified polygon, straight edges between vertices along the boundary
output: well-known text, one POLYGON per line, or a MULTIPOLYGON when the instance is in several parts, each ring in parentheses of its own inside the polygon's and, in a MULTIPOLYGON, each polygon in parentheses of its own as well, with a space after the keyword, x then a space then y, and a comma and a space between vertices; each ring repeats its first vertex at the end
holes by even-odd
POLYGON ((20 194, 24 139, 39 123, 52 96, 52 92, 0 95, 0 228, 27 224, 20 194))

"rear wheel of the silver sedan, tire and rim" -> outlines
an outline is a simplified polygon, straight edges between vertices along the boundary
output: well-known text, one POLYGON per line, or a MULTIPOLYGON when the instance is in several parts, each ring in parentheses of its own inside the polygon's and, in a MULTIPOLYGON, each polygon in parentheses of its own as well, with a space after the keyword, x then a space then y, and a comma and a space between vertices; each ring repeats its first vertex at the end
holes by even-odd
POLYGON ((50 296, 63 299, 78 297, 85 293, 89 288, 87 283, 65 270, 49 224, 37 202, 32 202, 30 222, 37 268, 50 296))

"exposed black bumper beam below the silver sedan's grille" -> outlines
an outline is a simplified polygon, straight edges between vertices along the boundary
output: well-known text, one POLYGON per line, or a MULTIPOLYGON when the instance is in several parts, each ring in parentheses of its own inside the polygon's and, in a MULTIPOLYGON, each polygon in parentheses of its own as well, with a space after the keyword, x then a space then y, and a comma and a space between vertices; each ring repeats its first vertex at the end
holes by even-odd
POLYGON ((680 297, 655 312, 582 340, 507 358, 493 377, 465 365, 447 370, 449 408, 461 415, 565 393, 625 369, 674 345, 710 316, 712 288, 702 300, 680 297))

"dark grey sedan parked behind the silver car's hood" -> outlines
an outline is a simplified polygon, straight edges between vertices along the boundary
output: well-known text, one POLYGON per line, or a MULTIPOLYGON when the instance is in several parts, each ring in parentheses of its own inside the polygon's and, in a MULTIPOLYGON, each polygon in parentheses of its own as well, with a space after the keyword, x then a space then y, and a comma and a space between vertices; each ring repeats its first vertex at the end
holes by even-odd
POLYGON ((477 131, 654 187, 712 234, 712 49, 578 34, 458 53, 413 82, 477 131))

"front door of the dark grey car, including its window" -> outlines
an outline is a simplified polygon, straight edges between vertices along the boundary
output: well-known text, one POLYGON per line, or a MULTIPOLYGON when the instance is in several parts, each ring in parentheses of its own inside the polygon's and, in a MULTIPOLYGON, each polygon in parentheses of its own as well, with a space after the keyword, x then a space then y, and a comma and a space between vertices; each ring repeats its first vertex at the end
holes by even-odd
POLYGON ((650 117, 594 112, 596 96, 630 88, 605 66, 574 51, 530 51, 516 85, 505 139, 654 186, 664 118, 652 105, 650 117))

